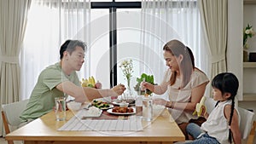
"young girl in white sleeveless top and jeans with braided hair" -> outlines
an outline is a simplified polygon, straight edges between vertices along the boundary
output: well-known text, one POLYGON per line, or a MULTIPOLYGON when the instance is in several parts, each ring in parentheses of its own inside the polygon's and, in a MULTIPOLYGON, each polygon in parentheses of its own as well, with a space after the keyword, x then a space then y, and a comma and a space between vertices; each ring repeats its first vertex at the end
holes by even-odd
MULTIPOLYGON (((187 132, 195 138, 189 144, 241 144, 239 130, 239 113, 235 108, 235 96, 238 89, 238 79, 230 72, 220 73, 212 79, 212 94, 218 101, 210 115, 205 112, 207 121, 199 127, 189 124, 187 132)), ((205 108, 204 108, 205 109, 205 108)))

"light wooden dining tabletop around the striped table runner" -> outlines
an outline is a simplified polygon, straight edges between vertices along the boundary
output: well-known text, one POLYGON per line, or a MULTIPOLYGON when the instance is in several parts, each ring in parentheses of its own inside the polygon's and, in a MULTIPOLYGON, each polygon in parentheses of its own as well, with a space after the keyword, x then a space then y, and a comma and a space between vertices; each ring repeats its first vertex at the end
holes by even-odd
POLYGON ((5 138, 7 141, 23 141, 24 144, 171 144, 185 141, 167 109, 151 121, 141 120, 143 130, 60 130, 74 116, 72 110, 67 110, 66 120, 56 121, 52 111, 12 131, 5 138))

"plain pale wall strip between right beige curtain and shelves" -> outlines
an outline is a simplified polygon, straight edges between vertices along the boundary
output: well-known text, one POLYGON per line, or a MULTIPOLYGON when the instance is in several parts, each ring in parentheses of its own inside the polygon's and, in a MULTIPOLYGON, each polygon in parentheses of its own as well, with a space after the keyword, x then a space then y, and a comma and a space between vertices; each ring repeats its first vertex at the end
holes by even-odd
POLYGON ((228 1, 228 49, 227 66, 228 71, 236 74, 240 82, 238 89, 238 100, 242 100, 243 72, 242 72, 242 28, 243 13, 242 0, 228 1))

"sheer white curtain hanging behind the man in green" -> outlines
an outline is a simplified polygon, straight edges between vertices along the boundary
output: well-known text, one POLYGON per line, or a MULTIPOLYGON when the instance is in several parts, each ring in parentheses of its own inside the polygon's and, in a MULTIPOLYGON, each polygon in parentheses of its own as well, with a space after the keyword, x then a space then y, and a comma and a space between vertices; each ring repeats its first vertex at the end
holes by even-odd
MULTIPOLYGON (((21 99, 30 97, 39 73, 60 61, 60 47, 67 39, 90 46, 90 0, 32 0, 24 49, 21 53, 21 99)), ((86 53, 85 62, 90 60, 86 53)), ((87 66, 87 67, 85 67, 87 66)), ((84 64, 79 74, 86 74, 84 64)))

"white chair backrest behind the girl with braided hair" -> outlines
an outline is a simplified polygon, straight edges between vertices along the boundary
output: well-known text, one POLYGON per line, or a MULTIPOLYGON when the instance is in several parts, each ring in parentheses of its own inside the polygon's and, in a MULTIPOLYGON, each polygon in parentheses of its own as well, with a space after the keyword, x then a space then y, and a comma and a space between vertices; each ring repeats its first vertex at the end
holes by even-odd
POLYGON ((253 115, 254 112, 250 112, 247 109, 238 107, 238 112, 240 113, 240 131, 241 131, 241 138, 247 139, 249 135, 252 125, 253 125, 253 115))

